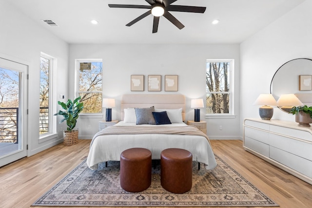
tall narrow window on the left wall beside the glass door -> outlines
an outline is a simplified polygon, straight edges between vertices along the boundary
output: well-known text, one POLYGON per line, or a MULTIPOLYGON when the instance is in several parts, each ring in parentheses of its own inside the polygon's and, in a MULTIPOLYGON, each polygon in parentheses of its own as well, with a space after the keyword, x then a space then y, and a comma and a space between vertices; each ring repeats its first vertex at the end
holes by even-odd
POLYGON ((53 59, 41 54, 40 57, 40 96, 39 96, 39 134, 52 132, 52 64, 53 59))

